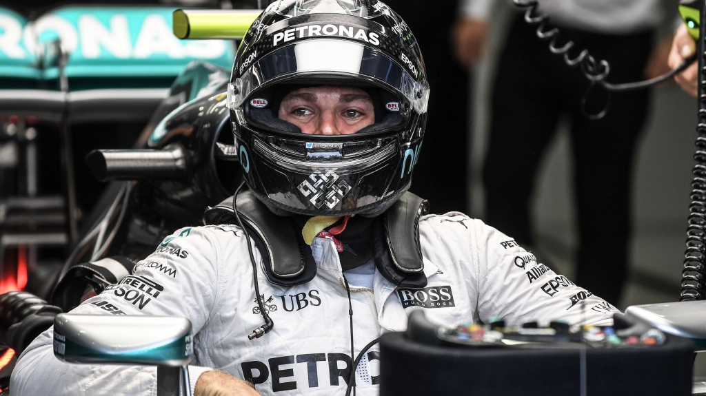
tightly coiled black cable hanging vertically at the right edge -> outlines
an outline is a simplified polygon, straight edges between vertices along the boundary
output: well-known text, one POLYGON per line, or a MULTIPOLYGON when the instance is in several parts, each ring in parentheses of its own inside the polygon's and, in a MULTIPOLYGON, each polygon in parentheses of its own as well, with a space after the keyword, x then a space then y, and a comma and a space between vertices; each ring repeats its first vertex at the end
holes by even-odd
POLYGON ((689 226, 686 229, 686 252, 681 271, 681 292, 679 301, 705 299, 706 264, 706 43, 703 33, 706 29, 706 12, 701 10, 700 37, 697 54, 699 58, 699 124, 696 127, 696 165, 692 171, 691 204, 689 205, 689 226))

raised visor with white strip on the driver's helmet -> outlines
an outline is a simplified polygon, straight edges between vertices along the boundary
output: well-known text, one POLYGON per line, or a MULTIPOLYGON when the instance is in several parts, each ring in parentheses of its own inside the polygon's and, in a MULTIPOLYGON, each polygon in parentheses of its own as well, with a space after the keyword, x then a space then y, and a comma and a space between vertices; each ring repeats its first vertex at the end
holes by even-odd
POLYGON ((426 113, 429 101, 426 80, 417 82, 393 58, 344 39, 304 40, 264 56, 228 85, 228 107, 239 108, 251 93, 274 82, 321 74, 377 82, 399 92, 418 113, 426 113))

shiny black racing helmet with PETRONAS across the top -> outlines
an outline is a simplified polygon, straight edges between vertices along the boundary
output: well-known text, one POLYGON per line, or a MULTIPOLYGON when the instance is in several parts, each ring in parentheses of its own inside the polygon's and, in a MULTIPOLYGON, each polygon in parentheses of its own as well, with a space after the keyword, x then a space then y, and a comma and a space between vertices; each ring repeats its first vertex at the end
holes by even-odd
POLYGON ((409 189, 429 84, 400 16, 378 0, 279 0, 239 47, 228 87, 251 192, 275 213, 376 216, 409 189), (284 92, 353 86, 376 120, 354 135, 306 135, 277 118, 284 92))

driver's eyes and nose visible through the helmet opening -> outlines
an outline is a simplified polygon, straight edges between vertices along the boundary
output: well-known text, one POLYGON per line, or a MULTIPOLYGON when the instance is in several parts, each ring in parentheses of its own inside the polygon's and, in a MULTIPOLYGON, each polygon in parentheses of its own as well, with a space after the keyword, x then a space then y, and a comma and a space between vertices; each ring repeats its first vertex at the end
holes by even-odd
POLYGON ((309 135, 350 135, 375 122, 363 89, 328 85, 289 92, 277 116, 309 135))

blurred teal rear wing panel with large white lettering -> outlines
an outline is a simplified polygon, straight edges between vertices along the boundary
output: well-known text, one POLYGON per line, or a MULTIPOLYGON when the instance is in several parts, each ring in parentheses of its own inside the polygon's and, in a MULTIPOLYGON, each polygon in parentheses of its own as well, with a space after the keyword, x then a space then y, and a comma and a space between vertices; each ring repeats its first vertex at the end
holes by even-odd
POLYGON ((66 6, 28 21, 0 8, 0 78, 59 78, 58 66, 42 66, 47 44, 56 39, 68 51, 64 73, 74 82, 70 90, 169 87, 195 60, 232 67, 232 41, 174 37, 173 11, 151 6, 66 6))

